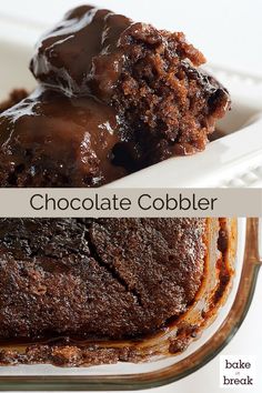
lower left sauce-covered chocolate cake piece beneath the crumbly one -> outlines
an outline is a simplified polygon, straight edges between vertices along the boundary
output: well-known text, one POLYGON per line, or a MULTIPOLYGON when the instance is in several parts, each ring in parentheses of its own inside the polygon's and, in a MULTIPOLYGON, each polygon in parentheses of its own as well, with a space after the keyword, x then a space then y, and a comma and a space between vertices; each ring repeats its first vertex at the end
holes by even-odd
POLYGON ((112 107, 39 89, 0 115, 0 184, 101 185, 127 174, 112 164, 118 142, 112 107))

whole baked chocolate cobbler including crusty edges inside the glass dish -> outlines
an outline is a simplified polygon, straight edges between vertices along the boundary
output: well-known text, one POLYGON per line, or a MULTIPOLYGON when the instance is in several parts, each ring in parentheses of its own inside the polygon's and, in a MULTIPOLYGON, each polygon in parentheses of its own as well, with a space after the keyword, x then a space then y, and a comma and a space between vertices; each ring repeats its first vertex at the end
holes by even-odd
MULTIPOLYGON (((215 225, 225 250, 226 230, 215 225)), ((209 231, 206 219, 1 219, 0 364, 93 365, 183 351, 230 281, 214 243, 218 276, 203 290, 209 231), (155 344, 141 349, 147 340, 155 344)))

